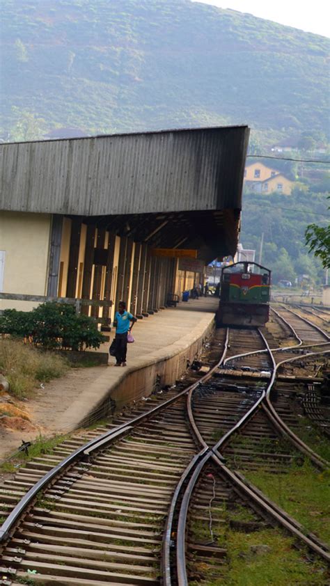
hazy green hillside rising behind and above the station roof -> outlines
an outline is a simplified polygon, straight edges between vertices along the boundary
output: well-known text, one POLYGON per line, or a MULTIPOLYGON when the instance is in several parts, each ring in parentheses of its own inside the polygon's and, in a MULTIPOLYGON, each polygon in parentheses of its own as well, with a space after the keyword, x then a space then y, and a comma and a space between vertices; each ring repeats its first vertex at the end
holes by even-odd
POLYGON ((327 127, 328 43, 312 33, 190 0, 2 0, 1 23, 5 140, 247 123, 267 143, 327 127))

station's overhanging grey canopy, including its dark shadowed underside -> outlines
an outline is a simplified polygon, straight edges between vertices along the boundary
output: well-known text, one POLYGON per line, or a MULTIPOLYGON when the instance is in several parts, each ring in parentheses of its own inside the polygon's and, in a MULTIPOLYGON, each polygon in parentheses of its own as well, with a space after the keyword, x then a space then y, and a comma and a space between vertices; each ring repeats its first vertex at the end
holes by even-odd
POLYGON ((60 214, 157 248, 233 255, 249 128, 0 145, 0 209, 60 214))

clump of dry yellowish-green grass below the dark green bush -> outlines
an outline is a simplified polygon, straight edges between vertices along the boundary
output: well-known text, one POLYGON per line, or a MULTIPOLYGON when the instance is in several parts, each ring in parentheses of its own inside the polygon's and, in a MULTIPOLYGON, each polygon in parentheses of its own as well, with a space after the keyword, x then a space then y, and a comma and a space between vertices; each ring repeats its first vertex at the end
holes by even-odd
POLYGON ((62 356, 40 352, 22 340, 6 338, 0 342, 0 371, 10 384, 10 392, 19 398, 29 395, 38 382, 61 377, 68 368, 62 356))

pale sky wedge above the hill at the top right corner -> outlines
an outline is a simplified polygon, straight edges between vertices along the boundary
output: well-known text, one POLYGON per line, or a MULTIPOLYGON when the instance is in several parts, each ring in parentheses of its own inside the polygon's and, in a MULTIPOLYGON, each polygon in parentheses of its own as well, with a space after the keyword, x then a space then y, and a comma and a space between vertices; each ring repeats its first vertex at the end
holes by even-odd
POLYGON ((329 2, 327 0, 193 0, 232 8, 260 18, 274 20, 295 29, 330 36, 329 2))

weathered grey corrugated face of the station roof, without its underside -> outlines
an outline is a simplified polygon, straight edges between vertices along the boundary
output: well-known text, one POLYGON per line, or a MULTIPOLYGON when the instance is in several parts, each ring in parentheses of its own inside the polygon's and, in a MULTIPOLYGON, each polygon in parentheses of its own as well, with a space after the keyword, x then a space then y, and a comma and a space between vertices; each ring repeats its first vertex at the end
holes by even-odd
POLYGON ((101 216, 240 209, 249 129, 0 145, 0 209, 101 216))

